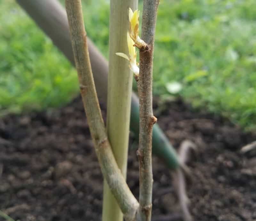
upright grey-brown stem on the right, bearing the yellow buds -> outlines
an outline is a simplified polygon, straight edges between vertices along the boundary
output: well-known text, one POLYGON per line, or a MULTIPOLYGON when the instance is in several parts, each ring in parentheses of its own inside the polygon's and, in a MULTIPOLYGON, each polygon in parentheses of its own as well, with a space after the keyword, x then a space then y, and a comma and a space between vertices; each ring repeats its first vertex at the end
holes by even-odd
POLYGON ((156 13, 159 0, 144 0, 141 39, 148 44, 140 50, 140 75, 138 92, 140 102, 140 137, 137 151, 140 166, 140 210, 141 220, 151 220, 152 207, 152 130, 156 122, 152 109, 153 49, 156 29, 156 13))

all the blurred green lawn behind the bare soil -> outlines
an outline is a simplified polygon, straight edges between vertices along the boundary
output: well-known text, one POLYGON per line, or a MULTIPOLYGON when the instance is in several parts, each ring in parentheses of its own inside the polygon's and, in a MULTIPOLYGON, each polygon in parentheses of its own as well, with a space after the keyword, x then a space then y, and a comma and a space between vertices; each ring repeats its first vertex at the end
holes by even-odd
MULTIPOLYGON (((108 1, 83 3, 87 33, 107 57, 108 1)), ((68 102, 78 91, 75 70, 13 1, 0 0, 0 12, 1 113, 68 102)), ((255 129, 255 21, 255 0, 161 0, 154 94, 181 95, 255 129), (171 82, 180 83, 179 93, 168 92, 171 82)))

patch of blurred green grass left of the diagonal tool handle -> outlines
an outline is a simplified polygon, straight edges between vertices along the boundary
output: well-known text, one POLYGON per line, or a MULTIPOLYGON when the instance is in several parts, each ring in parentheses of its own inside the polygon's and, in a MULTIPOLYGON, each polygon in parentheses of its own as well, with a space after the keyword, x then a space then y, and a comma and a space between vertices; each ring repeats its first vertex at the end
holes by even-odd
POLYGON ((60 106, 76 71, 14 1, 0 2, 0 114, 60 106))

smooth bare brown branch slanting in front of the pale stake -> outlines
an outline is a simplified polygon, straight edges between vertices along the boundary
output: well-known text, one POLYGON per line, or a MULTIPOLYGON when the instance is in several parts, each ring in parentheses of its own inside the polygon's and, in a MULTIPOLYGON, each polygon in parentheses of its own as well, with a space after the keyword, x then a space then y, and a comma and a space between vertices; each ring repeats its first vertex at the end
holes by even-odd
POLYGON ((127 186, 108 142, 92 76, 81 0, 66 0, 66 10, 80 92, 101 171, 125 219, 134 221, 139 203, 127 186))

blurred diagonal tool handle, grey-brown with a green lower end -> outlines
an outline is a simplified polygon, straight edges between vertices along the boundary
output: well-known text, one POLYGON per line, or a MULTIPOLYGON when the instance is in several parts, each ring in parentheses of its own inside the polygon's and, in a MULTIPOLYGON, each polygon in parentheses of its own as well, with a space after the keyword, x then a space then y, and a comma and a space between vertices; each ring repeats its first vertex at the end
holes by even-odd
MULTIPOLYGON (((16 0, 16 2, 27 11, 29 16, 52 39, 53 43, 63 52, 68 60, 75 65, 68 30, 68 19, 66 11, 60 3, 57 0, 16 0)), ((107 100, 108 62, 89 38, 87 38, 87 43, 97 94, 100 100, 105 102, 107 100)), ((135 93, 132 93, 130 129, 138 138, 139 100, 135 93)), ((153 153, 163 158, 169 168, 178 168, 177 153, 157 125, 153 127, 152 139, 153 153)))

